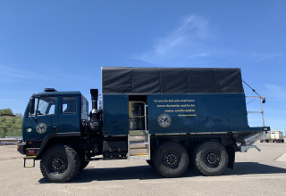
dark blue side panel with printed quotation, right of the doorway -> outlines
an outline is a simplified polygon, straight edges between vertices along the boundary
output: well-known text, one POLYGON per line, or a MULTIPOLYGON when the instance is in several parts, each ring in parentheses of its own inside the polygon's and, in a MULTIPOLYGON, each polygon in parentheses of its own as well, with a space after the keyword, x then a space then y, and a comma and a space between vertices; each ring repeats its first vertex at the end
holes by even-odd
POLYGON ((150 94, 147 102, 150 134, 248 129, 244 94, 150 94))

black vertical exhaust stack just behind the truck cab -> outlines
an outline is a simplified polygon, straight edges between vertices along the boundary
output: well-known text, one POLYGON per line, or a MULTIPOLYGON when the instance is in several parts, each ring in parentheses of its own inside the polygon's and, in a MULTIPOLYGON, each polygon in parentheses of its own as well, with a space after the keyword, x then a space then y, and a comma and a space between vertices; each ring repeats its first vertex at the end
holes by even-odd
POLYGON ((101 112, 97 110, 98 89, 90 89, 92 110, 88 121, 88 129, 96 134, 101 131, 101 112))

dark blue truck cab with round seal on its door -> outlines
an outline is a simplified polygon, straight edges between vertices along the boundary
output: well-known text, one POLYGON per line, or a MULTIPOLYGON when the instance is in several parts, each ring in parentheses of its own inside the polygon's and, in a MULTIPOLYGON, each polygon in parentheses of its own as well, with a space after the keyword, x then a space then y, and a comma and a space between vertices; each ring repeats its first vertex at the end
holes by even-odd
POLYGON ((38 154, 47 135, 49 139, 80 136, 82 122, 87 120, 88 101, 80 92, 57 92, 49 88, 33 94, 23 117, 22 136, 26 148, 21 151, 38 154))

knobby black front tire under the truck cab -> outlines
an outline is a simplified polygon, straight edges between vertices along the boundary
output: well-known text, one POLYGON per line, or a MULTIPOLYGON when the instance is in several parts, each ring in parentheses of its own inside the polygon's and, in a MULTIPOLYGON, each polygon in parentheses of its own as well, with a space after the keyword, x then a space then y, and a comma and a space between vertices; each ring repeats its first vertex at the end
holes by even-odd
POLYGON ((80 155, 68 145, 54 145, 43 154, 40 169, 51 183, 65 183, 79 172, 80 155))

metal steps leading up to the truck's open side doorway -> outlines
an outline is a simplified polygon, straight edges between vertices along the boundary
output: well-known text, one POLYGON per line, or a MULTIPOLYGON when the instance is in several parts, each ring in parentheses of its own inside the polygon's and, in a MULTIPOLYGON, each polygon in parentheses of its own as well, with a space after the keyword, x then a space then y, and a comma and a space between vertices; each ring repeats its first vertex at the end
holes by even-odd
POLYGON ((150 135, 146 130, 134 130, 128 135, 128 159, 150 159, 150 135))

